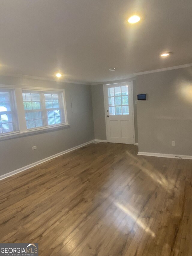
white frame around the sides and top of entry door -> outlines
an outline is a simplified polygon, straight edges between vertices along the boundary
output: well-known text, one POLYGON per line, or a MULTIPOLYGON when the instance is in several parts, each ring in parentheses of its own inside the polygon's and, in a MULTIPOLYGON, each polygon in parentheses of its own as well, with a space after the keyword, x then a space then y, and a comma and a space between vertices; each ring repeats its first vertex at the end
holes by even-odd
POLYGON ((134 120, 134 97, 133 97, 133 80, 127 80, 124 82, 114 82, 114 83, 104 83, 103 84, 103 95, 104 95, 104 106, 105 106, 105 127, 106 127, 106 137, 107 137, 107 142, 109 142, 109 133, 108 133, 108 128, 107 128, 107 108, 108 108, 108 103, 106 102, 106 97, 105 97, 105 86, 106 85, 113 85, 113 84, 121 84, 121 83, 131 83, 131 107, 132 107, 132 124, 133 124, 133 139, 134 139, 134 145, 135 145, 135 120, 134 120))

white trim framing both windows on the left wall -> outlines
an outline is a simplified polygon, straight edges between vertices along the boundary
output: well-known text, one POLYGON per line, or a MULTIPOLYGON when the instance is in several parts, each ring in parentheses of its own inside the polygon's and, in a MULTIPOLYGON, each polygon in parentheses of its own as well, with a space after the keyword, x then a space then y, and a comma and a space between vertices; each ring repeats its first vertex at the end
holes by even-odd
POLYGON ((68 121, 67 121, 67 111, 66 111, 66 99, 65 99, 65 91, 64 89, 57 89, 57 88, 46 88, 46 87, 34 87, 34 86, 13 86, 13 85, 4 85, 0 84, 0 88, 11 88, 14 89, 15 91, 15 98, 16 98, 16 109, 17 109, 17 116, 18 116, 18 123, 19 123, 19 132, 12 132, 10 134, 5 134, 0 136, 0 141, 1 140, 6 140, 10 138, 15 138, 15 137, 22 137, 26 136, 28 134, 35 134, 43 131, 49 131, 49 130, 55 130, 59 128, 64 128, 69 126, 68 121), (59 125, 50 125, 46 127, 40 127, 40 128, 35 128, 34 130, 27 130, 27 125, 26 125, 26 120, 25 120, 25 110, 23 106, 23 99, 22 99, 22 90, 35 90, 35 91, 46 91, 46 92, 62 92, 63 97, 62 97, 62 103, 64 107, 64 116, 65 116, 65 123, 64 124, 59 124, 59 125))

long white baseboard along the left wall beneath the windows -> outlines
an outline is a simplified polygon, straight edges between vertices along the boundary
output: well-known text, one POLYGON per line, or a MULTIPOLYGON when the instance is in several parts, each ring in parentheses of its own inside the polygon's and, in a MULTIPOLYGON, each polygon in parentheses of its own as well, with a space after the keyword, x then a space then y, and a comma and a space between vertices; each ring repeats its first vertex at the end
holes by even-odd
POLYGON ((48 161, 48 160, 51 160, 51 159, 53 159, 53 158, 55 158, 55 157, 60 156, 60 155, 64 155, 64 154, 66 154, 66 153, 68 153, 68 152, 70 152, 70 151, 73 151, 73 150, 75 150, 75 149, 79 149, 79 148, 81 148, 81 147, 83 147, 83 146, 86 146, 86 145, 88 145, 88 144, 93 143, 94 141, 95 141, 95 140, 90 140, 90 141, 85 142, 85 143, 83 143, 83 144, 81 144, 81 145, 78 145, 78 146, 75 146, 75 147, 73 147, 73 148, 64 150, 64 151, 62 151, 62 152, 60 152, 60 153, 57 153, 57 154, 55 154, 55 155, 51 155, 51 156, 49 156, 49 157, 47 157, 47 158, 44 158, 44 159, 42 159, 42 160, 39 160, 39 161, 37 161, 37 162, 35 162, 35 163, 32 163, 32 164, 26 165, 26 166, 24 166, 24 167, 21 167, 21 168, 19 168, 19 169, 17 169, 17 170, 14 170, 14 171, 12 171, 12 172, 5 173, 5 174, 3 174, 3 175, 0 176, 0 180, 5 179, 5 178, 8 178, 8 177, 10 177, 10 176, 13 176, 13 175, 15 175, 16 173, 20 173, 20 172, 22 172, 22 171, 25 171, 25 170, 27 170, 27 169, 29 169, 29 168, 32 168, 32 167, 34 167, 34 166, 36 166, 36 165, 38 165, 38 164, 42 164, 42 163, 44 163, 44 162, 46 162, 46 161, 48 161))

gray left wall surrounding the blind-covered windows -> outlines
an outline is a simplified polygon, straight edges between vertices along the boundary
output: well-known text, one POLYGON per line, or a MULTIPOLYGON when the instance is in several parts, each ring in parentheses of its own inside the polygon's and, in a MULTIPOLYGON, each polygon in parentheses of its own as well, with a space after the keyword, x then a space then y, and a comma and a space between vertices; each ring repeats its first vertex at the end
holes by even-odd
POLYGON ((70 127, 0 141, 0 175, 94 139, 91 86, 0 76, 0 84, 65 89, 70 127), (79 112, 73 113, 72 101, 79 112), (32 150, 32 146, 37 146, 32 150))

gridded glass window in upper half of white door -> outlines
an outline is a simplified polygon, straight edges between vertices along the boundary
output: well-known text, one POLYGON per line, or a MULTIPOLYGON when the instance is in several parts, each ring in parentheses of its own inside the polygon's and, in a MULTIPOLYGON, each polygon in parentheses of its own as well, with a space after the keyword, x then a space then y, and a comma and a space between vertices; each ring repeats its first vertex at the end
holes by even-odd
POLYGON ((128 87, 118 86, 108 88, 108 104, 109 114, 111 116, 129 115, 128 87))

